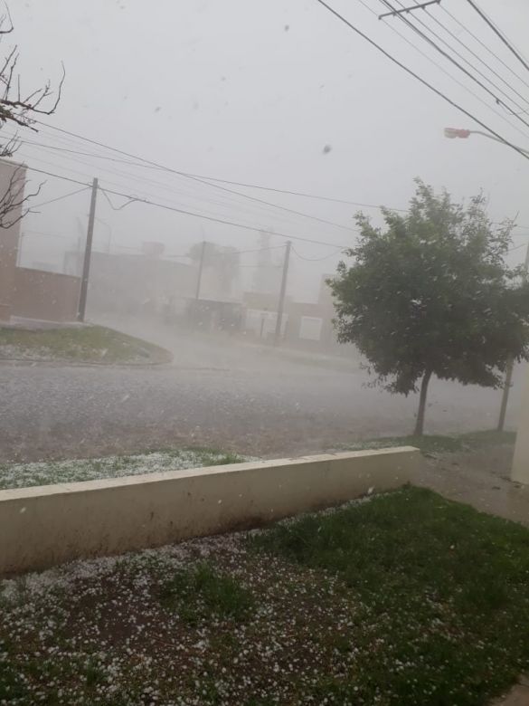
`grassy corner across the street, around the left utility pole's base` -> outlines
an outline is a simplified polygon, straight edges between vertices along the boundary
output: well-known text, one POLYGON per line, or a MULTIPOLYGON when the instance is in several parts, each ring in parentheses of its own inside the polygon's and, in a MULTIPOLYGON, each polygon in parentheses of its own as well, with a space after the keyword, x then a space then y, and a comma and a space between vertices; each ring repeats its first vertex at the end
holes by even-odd
POLYGON ((152 343, 103 326, 68 329, 0 327, 0 359, 76 363, 168 363, 171 354, 152 343))

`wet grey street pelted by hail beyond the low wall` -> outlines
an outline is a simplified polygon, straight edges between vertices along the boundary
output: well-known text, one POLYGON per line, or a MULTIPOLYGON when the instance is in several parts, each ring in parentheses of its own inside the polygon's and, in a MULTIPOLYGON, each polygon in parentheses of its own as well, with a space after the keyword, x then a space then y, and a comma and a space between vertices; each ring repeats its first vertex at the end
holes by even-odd
MULTIPOLYGON (((140 331, 130 324, 127 332, 140 331)), ((166 367, 0 365, 0 458, 128 453, 170 444, 256 455, 315 452, 373 435, 406 434, 416 396, 367 387, 354 362, 276 352, 142 325, 171 348, 166 367)), ((429 433, 491 428, 498 391, 434 381, 429 433)), ((515 422, 519 384, 508 422, 515 422)))

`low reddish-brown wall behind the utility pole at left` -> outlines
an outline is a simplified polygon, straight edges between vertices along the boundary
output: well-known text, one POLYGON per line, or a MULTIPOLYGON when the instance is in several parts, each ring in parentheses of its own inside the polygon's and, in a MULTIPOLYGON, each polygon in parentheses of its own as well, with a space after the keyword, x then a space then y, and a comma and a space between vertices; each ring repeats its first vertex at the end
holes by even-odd
POLYGON ((47 321, 76 320, 79 277, 17 267, 13 286, 12 316, 47 321))

